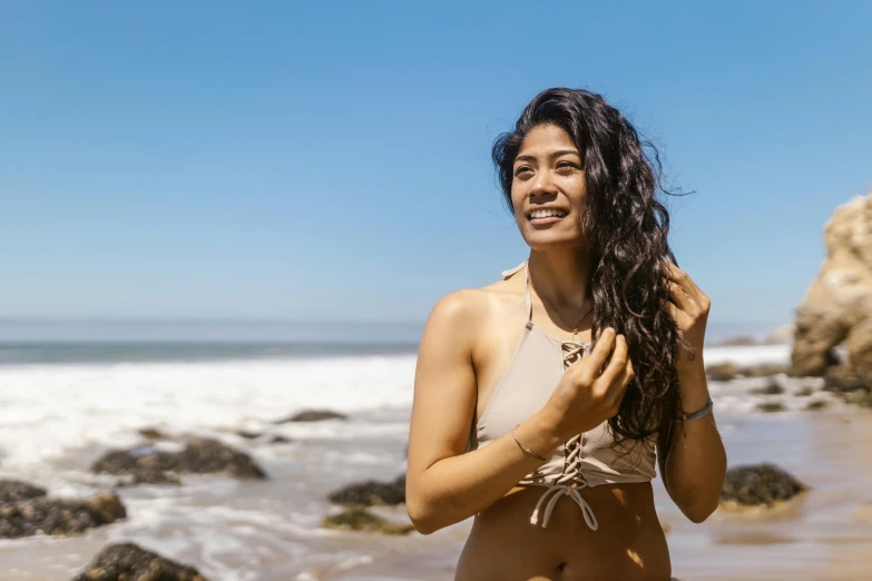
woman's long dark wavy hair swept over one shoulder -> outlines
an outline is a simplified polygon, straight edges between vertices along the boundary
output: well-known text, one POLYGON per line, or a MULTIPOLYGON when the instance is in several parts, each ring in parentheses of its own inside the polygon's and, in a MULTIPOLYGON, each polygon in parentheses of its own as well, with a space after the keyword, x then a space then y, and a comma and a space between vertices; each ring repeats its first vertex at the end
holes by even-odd
POLYGON ((658 191, 682 193, 663 187, 656 147, 640 139, 600 95, 553 88, 537 95, 515 130, 493 144, 493 164, 512 215, 515 158, 527 134, 543 124, 567 131, 581 154, 587 191, 581 227, 592 257, 592 336, 608 326, 623 333, 636 372, 608 425, 618 444, 631 439, 653 446, 664 418, 672 421, 680 410, 676 344, 689 347, 664 306, 669 289, 663 260, 677 262, 667 240, 669 214, 656 197, 658 191))

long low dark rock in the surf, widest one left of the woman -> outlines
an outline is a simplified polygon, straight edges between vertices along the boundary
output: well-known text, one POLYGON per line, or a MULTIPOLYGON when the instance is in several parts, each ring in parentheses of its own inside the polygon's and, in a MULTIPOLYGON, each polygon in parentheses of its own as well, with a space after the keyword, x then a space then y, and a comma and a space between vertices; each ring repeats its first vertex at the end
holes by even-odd
POLYGON ((193 439, 182 452, 164 452, 154 446, 109 452, 91 465, 98 474, 130 475, 134 483, 166 483, 175 474, 228 474, 237 479, 266 477, 245 452, 210 439, 193 439))

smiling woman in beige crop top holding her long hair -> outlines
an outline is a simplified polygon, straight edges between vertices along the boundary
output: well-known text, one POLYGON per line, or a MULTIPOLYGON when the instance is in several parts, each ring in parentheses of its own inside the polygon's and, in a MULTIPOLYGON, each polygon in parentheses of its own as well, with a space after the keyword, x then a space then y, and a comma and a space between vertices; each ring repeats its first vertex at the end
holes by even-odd
POLYGON ((562 88, 493 146, 529 258, 433 307, 409 441, 415 528, 474 516, 455 581, 669 580, 656 456, 687 518, 717 506, 709 301, 674 264, 654 159, 602 97, 562 88))

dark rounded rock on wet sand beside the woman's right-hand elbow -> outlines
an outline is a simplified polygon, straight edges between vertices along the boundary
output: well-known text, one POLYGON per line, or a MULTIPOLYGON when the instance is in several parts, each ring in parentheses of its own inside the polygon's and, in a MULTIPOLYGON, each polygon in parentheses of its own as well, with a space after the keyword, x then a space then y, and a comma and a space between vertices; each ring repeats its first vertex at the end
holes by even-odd
POLYGON ((721 503, 727 508, 772 506, 809 490, 809 486, 780 467, 763 463, 727 470, 721 489, 721 503))

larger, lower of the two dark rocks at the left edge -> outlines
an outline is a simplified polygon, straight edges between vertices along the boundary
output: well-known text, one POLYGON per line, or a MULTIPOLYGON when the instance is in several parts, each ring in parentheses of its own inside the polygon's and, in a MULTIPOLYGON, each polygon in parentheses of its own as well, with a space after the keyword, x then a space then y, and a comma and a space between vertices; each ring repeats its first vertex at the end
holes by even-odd
POLYGON ((110 492, 90 500, 38 496, 3 502, 0 503, 0 539, 75 534, 125 516, 124 504, 110 492))

